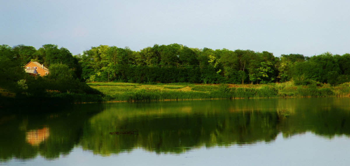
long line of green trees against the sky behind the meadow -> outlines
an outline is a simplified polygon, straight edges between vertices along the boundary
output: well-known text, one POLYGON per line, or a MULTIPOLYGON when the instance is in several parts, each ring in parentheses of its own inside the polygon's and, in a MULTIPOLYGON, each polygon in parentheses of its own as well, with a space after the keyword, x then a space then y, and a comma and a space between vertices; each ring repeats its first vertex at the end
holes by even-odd
POLYGON ((198 49, 174 43, 154 44, 140 51, 99 45, 74 56, 68 49, 54 44, 45 44, 37 50, 33 46, 2 45, 0 54, 1 62, 12 61, 10 67, 17 67, 18 71, 29 61, 36 61, 51 67, 50 73, 56 68, 57 77, 66 73, 62 77, 69 75, 82 81, 266 84, 293 80, 299 85, 312 81, 332 85, 350 81, 349 53, 275 57, 268 51, 198 49), (65 72, 55 64, 66 65, 65 72))

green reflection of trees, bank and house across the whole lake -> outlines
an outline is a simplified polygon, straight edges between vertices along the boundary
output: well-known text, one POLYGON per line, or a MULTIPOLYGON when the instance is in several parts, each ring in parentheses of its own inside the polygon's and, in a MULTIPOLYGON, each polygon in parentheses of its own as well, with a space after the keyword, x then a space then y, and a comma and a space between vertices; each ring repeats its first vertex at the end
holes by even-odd
POLYGON ((203 147, 274 144, 278 135, 349 137, 350 102, 304 98, 106 103, 0 119, 0 132, 6 133, 0 136, 3 161, 37 155, 55 159, 75 147, 102 156, 138 148, 180 154, 203 147))

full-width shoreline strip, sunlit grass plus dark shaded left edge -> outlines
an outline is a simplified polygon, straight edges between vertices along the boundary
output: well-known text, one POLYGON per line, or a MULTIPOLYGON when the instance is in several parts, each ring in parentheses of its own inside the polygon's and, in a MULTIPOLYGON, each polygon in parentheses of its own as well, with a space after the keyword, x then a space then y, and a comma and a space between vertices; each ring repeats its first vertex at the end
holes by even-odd
MULTIPOLYGON (((16 98, 1 95, 0 109, 10 107, 58 106, 65 104, 110 102, 156 102, 179 100, 266 99, 350 97, 350 83, 338 86, 295 86, 293 82, 270 84, 135 84, 124 82, 90 82, 91 88, 103 93, 94 95, 74 93, 52 94, 52 97, 16 98), (98 99, 98 100, 96 100, 98 99)), ((10 93, 10 92, 9 92, 10 93)))

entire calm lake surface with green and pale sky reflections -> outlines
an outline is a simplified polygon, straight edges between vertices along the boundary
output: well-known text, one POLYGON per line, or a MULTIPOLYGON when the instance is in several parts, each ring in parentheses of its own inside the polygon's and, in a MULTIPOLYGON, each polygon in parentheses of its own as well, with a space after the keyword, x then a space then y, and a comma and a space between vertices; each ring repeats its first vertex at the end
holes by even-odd
POLYGON ((76 104, 0 134, 5 165, 349 165, 350 98, 76 104))

